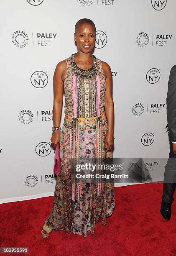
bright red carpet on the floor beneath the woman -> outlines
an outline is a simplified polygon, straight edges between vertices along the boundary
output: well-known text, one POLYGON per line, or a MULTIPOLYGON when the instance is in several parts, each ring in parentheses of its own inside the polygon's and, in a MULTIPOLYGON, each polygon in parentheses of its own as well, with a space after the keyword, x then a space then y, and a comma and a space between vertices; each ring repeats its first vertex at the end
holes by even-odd
POLYGON ((160 214, 162 188, 163 184, 116 187, 112 216, 106 225, 100 220, 87 238, 65 230, 41 237, 53 197, 1 204, 0 246, 29 247, 32 256, 176 255, 176 201, 167 222, 160 214))

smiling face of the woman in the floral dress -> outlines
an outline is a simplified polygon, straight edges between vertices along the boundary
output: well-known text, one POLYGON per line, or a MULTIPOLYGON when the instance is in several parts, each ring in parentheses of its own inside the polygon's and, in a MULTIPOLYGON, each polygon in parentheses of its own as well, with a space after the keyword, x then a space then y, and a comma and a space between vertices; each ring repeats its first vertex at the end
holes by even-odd
POLYGON ((77 41, 78 50, 89 53, 94 48, 95 31, 91 24, 80 24, 77 33, 74 33, 74 40, 77 41))

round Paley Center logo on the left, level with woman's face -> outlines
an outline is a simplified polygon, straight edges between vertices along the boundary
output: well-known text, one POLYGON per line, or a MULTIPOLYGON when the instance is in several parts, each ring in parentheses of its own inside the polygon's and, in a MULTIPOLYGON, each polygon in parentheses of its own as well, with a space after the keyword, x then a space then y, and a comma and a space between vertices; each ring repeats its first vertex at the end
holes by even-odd
POLYGON ((24 48, 29 43, 28 35, 23 30, 17 30, 12 35, 12 43, 17 48, 24 48))

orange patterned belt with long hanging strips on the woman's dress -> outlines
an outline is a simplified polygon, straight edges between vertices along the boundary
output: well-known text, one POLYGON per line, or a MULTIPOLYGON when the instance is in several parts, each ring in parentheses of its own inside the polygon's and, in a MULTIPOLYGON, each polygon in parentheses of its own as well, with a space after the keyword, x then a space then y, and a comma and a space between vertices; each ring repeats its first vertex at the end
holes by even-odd
MULTIPOLYGON (((76 182, 76 164, 79 164, 79 130, 96 129, 95 137, 95 159, 96 164, 101 164, 104 156, 103 133, 102 126, 107 123, 105 111, 96 116, 89 118, 74 118, 65 115, 64 125, 71 128, 70 133, 70 151, 71 151, 71 183, 72 183, 72 200, 78 202, 82 199, 81 181, 76 182)), ((96 184, 97 195, 100 199, 102 196, 103 183, 100 181, 96 184)), ((84 199, 83 199, 84 200, 84 199)))

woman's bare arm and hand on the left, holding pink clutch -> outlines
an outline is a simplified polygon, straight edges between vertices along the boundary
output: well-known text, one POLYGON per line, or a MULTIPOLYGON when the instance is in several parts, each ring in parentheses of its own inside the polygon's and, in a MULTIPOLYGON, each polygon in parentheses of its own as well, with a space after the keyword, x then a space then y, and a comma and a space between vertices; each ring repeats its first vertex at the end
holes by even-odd
MULTIPOLYGON (((66 74, 66 62, 61 61, 57 64, 53 77, 54 103, 53 103, 53 126, 60 127, 61 113, 64 95, 64 79, 66 74)), ((61 131, 54 131, 51 142, 56 146, 60 143, 61 131)))

